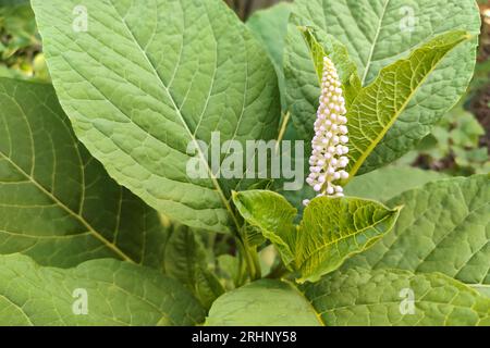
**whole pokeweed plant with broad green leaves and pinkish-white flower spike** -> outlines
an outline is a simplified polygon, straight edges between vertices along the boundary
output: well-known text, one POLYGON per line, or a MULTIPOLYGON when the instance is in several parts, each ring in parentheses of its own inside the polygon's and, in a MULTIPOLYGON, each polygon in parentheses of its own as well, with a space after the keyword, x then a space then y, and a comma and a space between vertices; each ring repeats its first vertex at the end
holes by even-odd
POLYGON ((473 74, 474 1, 411 3, 296 0, 244 25, 221 0, 32 0, 52 86, 0 79, 0 323, 490 324, 489 175, 354 178, 473 74), (298 215, 274 183, 219 176, 215 132, 311 141, 320 197, 298 215))

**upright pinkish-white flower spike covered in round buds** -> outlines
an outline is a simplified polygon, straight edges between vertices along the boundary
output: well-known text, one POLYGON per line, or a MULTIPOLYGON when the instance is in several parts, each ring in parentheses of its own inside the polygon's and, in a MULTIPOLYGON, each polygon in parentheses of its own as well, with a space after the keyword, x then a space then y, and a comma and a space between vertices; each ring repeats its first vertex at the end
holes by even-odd
MULTIPOLYGON (((344 170, 348 164, 345 157, 348 152, 346 112, 339 74, 332 61, 324 57, 320 107, 311 140, 310 174, 306 179, 318 196, 343 196, 342 186, 335 182, 348 178, 348 173, 344 170)), ((308 202, 305 200, 304 204, 308 202)))

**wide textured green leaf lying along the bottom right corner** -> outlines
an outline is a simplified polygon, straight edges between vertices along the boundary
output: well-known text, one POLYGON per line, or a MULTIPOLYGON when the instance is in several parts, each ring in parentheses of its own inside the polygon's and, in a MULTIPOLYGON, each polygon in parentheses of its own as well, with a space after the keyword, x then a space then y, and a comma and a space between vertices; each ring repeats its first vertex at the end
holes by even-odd
POLYGON ((490 299, 442 274, 351 269, 302 291, 327 326, 490 325, 490 299))

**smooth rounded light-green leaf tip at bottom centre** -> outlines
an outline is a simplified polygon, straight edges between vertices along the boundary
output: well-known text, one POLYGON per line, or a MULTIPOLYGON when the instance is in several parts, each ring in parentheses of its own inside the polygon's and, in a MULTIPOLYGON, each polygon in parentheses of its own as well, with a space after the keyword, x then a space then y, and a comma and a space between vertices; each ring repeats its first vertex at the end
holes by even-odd
POLYGON ((309 302, 290 284, 262 279, 221 296, 208 326, 319 326, 309 302))

